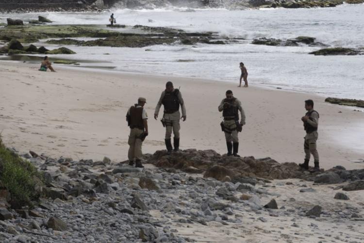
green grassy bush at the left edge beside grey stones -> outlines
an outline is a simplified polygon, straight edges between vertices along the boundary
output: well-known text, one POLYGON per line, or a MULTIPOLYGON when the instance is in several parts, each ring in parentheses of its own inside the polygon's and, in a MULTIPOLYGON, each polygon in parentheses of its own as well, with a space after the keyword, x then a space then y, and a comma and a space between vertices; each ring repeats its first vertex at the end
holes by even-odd
POLYGON ((12 206, 32 206, 31 201, 40 196, 35 191, 39 178, 36 168, 6 148, 0 137, 0 181, 11 194, 12 206))

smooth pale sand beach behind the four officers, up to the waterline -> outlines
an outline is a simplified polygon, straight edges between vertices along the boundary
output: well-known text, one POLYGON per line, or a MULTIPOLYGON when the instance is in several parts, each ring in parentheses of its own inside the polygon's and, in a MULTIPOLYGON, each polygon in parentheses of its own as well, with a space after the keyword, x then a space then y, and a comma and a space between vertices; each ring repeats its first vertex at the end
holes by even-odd
MULTIPOLYGON (((121 73, 55 65, 56 73, 40 72, 39 65, 0 61, 0 131, 4 143, 23 152, 33 150, 52 157, 127 159, 128 108, 138 97, 147 98, 149 136, 144 153, 165 149, 159 119, 154 108, 172 81, 181 87, 187 120, 181 121, 181 148, 214 149, 226 153, 217 106, 228 89, 241 100, 246 126, 239 133, 241 156, 271 157, 278 162, 303 161, 300 121, 304 100, 313 99, 320 113, 317 147, 320 165, 329 169, 343 165, 363 168, 361 139, 364 139, 364 112, 324 102, 324 97, 249 83, 121 73)), ((238 77, 237 77, 238 80, 238 77)), ((159 114, 159 118, 163 113, 159 114)), ((313 160, 313 159, 312 159, 313 160)), ((311 163, 313 163, 311 161, 311 163)))

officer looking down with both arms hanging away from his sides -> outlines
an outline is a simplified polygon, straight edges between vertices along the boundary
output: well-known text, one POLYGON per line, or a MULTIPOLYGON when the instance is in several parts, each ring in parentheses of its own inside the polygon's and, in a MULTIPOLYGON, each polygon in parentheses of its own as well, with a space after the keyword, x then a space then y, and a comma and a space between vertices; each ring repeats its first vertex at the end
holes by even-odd
POLYGON ((167 154, 172 152, 171 136, 173 130, 173 146, 174 151, 178 151, 180 147, 180 119, 186 120, 186 107, 179 89, 173 88, 173 83, 168 81, 165 84, 165 91, 162 92, 158 104, 155 107, 154 119, 157 119, 159 109, 162 104, 164 105, 164 114, 162 124, 165 126, 165 147, 167 154), (180 105, 182 110, 182 117, 180 114, 180 105))

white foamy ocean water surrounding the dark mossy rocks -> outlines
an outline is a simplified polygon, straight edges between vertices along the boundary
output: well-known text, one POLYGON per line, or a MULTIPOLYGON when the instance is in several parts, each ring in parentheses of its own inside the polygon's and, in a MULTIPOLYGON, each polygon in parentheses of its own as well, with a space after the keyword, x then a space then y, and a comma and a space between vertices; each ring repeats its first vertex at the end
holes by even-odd
MULTIPOLYGON (((114 70, 239 81, 239 63, 248 69, 250 84, 259 84, 322 96, 364 99, 364 55, 314 56, 319 47, 270 47, 250 44, 254 38, 288 39, 300 35, 316 38, 330 47, 364 48, 364 4, 343 4, 312 9, 226 9, 183 8, 154 10, 113 9, 117 24, 213 31, 224 37, 244 38, 229 45, 157 45, 145 48, 70 46, 77 55, 57 57, 98 60, 83 66, 112 66, 114 70), (108 55, 105 55, 108 53, 108 55)), ((36 19, 52 24, 107 24, 111 12, 27 13, 1 15, 36 19)), ((1 31, 1 29, 0 29, 1 31)), ((122 31, 122 30, 120 30, 122 31)), ((36 44, 40 45, 40 43, 36 44)), ((57 45, 45 45, 55 48, 57 45)))

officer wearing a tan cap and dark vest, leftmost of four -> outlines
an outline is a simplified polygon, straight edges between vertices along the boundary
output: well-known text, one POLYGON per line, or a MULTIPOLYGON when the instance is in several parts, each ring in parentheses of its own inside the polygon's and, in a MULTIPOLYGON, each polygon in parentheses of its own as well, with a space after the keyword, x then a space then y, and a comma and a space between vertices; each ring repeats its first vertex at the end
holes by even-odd
POLYGON ((129 135, 129 165, 135 167, 144 168, 142 162, 142 143, 146 136, 148 136, 148 115, 144 109, 144 105, 147 103, 146 98, 139 97, 138 103, 129 108, 126 115, 128 126, 130 127, 129 135))

